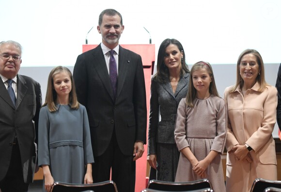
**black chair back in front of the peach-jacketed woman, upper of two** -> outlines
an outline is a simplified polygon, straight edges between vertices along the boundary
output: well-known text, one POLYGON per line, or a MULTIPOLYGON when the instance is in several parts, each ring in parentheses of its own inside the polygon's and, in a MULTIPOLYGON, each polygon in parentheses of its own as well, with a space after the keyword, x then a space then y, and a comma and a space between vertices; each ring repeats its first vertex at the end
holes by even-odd
POLYGON ((268 187, 281 188, 281 181, 257 178, 254 180, 250 192, 264 192, 268 187))

